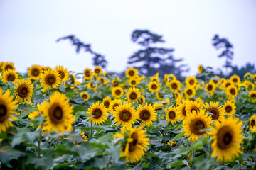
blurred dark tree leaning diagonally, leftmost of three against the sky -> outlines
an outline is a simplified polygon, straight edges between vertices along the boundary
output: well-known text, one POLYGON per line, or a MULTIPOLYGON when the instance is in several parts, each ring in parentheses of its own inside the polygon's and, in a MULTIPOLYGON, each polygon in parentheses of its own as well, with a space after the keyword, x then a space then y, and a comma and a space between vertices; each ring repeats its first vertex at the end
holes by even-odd
POLYGON ((93 57, 92 57, 93 63, 92 64, 94 66, 100 66, 102 68, 107 67, 107 60, 105 60, 105 56, 92 51, 90 44, 85 44, 84 42, 80 41, 78 38, 75 38, 75 35, 68 35, 63 38, 59 38, 57 40, 57 42, 60 42, 60 40, 70 40, 72 45, 74 45, 76 47, 75 51, 77 53, 79 53, 80 50, 82 50, 82 49, 85 50, 85 52, 90 52, 90 54, 93 55, 93 57))

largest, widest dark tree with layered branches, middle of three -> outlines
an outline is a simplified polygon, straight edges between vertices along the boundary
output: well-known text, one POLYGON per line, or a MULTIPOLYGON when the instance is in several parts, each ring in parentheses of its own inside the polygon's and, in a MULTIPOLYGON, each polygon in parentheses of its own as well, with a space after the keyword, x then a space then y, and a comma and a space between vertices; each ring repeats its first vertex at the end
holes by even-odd
POLYGON ((181 62, 183 59, 174 59, 172 55, 174 49, 151 47, 151 44, 165 42, 162 39, 162 35, 151 33, 149 30, 134 30, 132 42, 143 47, 142 50, 138 50, 128 59, 128 64, 136 68, 139 73, 145 76, 152 76, 159 72, 159 77, 172 73, 181 77, 182 72, 188 71, 188 69, 183 69, 183 67, 186 67, 186 64, 176 67, 176 63, 181 62))

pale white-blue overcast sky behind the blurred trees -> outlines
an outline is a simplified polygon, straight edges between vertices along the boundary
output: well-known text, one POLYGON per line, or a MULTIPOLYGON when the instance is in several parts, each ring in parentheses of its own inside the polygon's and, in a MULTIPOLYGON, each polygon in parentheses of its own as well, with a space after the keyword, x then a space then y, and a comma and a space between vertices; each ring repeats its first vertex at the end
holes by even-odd
POLYGON ((0 60, 14 62, 19 72, 32 64, 82 72, 92 56, 75 53, 58 38, 74 34, 105 55, 107 71, 127 69, 127 58, 139 50, 131 41, 134 29, 164 35, 164 47, 195 75, 198 64, 220 68, 225 63, 211 45, 213 35, 234 46, 233 64, 256 62, 256 1, 254 0, 1 0, 0 60))

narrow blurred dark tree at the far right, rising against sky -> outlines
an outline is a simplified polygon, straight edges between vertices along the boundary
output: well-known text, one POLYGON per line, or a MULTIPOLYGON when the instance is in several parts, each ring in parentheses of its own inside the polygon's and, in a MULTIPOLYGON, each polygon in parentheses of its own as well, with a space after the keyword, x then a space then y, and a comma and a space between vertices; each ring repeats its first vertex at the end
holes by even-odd
POLYGON ((225 57, 225 65, 223 67, 226 68, 226 74, 228 75, 228 68, 232 67, 231 60, 233 60, 234 52, 231 50, 233 45, 226 38, 220 38, 219 35, 214 35, 213 38, 213 46, 218 50, 220 48, 224 48, 224 50, 218 55, 218 57, 225 57))

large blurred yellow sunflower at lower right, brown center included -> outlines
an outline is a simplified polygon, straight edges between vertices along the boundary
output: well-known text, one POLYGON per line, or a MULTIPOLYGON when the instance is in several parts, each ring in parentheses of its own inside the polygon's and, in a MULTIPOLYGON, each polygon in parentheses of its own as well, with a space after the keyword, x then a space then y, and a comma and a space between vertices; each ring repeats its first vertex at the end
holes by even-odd
POLYGON ((238 118, 228 117, 222 123, 215 122, 215 127, 210 131, 213 142, 212 156, 217 156, 217 161, 231 162, 234 157, 242 153, 242 121, 238 118))

